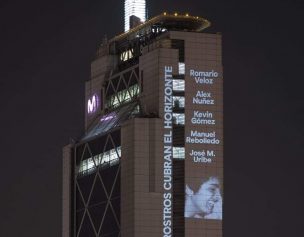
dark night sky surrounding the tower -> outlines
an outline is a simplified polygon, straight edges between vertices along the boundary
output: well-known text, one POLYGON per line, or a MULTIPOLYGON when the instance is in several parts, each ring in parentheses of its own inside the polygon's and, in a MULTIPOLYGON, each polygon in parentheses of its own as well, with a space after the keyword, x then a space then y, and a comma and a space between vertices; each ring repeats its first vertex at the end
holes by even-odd
MULTIPOLYGON (((302 237, 304 2, 148 0, 223 34, 225 237, 302 237)), ((123 1, 0 3, 1 237, 61 231, 61 147, 82 134, 84 81, 123 1)))

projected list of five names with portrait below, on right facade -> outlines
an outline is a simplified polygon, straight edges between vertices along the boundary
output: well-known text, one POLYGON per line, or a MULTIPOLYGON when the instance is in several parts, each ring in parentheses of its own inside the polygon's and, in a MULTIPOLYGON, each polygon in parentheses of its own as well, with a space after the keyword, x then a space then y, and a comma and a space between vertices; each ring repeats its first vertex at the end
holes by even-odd
MULTIPOLYGON (((222 77, 217 70, 190 69, 185 90, 185 218, 193 231, 222 220, 222 77), (196 219, 201 219, 197 225, 196 219), (205 222, 203 222, 206 220, 205 222)), ((190 233, 190 232, 189 232, 190 233)), ((188 236, 186 234, 186 236, 188 236)))

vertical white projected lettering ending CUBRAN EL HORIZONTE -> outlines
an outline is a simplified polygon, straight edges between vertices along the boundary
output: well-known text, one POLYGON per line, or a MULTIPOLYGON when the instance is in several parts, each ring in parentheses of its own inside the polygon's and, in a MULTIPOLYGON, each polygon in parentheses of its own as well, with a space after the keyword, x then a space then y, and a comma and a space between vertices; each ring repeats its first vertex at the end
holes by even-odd
POLYGON ((164 195, 163 195, 163 237, 172 236, 172 109, 173 80, 172 67, 164 68, 164 195))

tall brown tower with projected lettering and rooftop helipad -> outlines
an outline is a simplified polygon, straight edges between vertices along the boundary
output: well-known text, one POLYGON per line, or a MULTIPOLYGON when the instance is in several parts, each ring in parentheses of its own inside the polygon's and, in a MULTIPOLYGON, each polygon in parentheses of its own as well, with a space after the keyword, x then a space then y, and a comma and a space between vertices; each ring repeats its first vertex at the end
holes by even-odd
POLYGON ((85 134, 64 148, 63 237, 222 236, 222 43, 209 25, 163 13, 99 47, 85 134))

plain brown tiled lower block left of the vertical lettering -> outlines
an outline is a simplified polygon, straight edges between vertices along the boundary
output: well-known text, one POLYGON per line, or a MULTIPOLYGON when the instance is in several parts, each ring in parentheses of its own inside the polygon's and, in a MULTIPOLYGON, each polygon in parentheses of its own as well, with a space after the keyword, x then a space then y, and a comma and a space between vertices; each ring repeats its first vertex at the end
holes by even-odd
POLYGON ((162 233, 162 127, 159 118, 135 118, 121 129, 121 236, 162 233))

